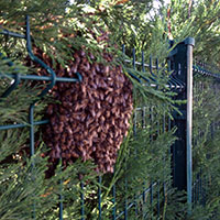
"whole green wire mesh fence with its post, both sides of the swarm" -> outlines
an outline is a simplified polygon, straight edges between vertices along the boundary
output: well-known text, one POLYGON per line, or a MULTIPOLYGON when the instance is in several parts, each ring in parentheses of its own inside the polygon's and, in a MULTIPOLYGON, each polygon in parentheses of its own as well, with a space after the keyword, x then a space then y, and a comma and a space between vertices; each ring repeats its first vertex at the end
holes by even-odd
MULTIPOLYGON (((48 76, 23 75, 15 69, 14 74, 0 73, 1 80, 10 79, 4 85, 1 94, 1 101, 7 100, 23 81, 48 82, 44 84, 44 89, 36 92, 35 99, 29 102, 29 120, 25 122, 13 121, 11 124, 0 125, 0 131, 29 130, 30 155, 35 155, 36 127, 48 123, 47 119, 36 120, 35 107, 56 82, 79 84, 84 79, 80 73, 75 77, 57 77, 54 70, 38 59, 32 52, 30 23, 26 16, 26 34, 11 33, 3 30, 1 34, 12 37, 25 38, 29 56, 40 66, 46 69, 48 76), (34 101, 33 101, 34 100, 34 101)), ((209 151, 208 141, 216 140, 219 131, 219 103, 217 95, 219 91, 219 75, 213 73, 207 65, 193 63, 191 38, 178 44, 170 53, 167 61, 160 65, 158 59, 144 57, 144 52, 135 53, 135 48, 127 56, 125 47, 122 47, 124 68, 132 80, 141 87, 154 89, 160 97, 160 92, 172 91, 176 95, 174 100, 182 100, 178 112, 166 108, 163 101, 156 102, 154 99, 144 103, 139 101, 133 111, 131 120, 132 129, 129 138, 125 138, 118 155, 118 161, 112 174, 97 175, 96 184, 84 180, 79 177, 77 183, 72 183, 64 177, 58 179, 58 193, 55 208, 48 209, 54 216, 52 219, 164 219, 166 217, 165 207, 172 186, 180 190, 187 190, 188 204, 193 208, 196 204, 206 205, 215 185, 212 170, 213 164, 218 162, 216 153, 218 147, 209 151), (190 47, 190 50, 189 50, 190 47), (131 57, 131 58, 130 58, 131 57), (136 75, 136 70, 139 75, 136 75), (193 95, 188 89, 193 88, 188 84, 190 74, 194 70, 194 128, 193 128, 193 155, 191 158, 191 136, 188 132, 191 127, 189 99, 193 95), (168 73, 168 75, 167 75, 168 73), (184 101, 188 101, 187 105, 184 101), (202 110, 202 111, 201 111, 202 110), (177 139, 174 136, 177 136, 177 139), (206 144, 205 144, 206 143, 206 144), (205 151, 206 150, 206 151, 205 151), (208 162, 208 163, 207 163, 208 162), (193 164, 191 164, 193 163, 193 164), (212 166, 211 166, 212 165, 212 166), (193 167, 191 167, 193 166, 193 167), (191 179, 193 178, 193 179, 191 179), (191 183, 193 182, 193 183, 191 183), (72 185, 72 186, 70 186, 72 185), (77 188, 76 199, 69 199, 67 191, 77 188), (77 216, 68 216, 72 205, 76 204, 77 216), (58 207, 58 208, 57 208, 58 207)), ((1 59, 8 66, 13 66, 1 55, 1 59)), ((25 100, 23 105, 25 103, 25 100)), ((84 132, 84 131, 81 131, 84 132)), ((62 158, 59 158, 62 164, 62 158)), ((35 163, 32 161, 31 174, 33 174, 35 163)), ((64 170, 61 168, 61 173, 64 170)), ((34 178, 32 179, 34 183, 34 178)), ((48 193, 50 195, 50 193, 48 193)), ((47 197, 43 195, 42 197, 47 197)), ((37 202, 31 204, 31 218, 37 219, 37 202)))

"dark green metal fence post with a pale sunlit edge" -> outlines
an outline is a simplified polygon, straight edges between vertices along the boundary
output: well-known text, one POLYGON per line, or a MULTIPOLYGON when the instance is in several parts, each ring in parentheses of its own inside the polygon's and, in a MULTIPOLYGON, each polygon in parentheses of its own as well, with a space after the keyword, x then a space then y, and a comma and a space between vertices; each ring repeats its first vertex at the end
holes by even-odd
POLYGON ((191 157, 191 128, 193 128, 193 47, 195 40, 187 37, 172 52, 173 76, 185 84, 178 90, 177 100, 187 100, 180 106, 182 116, 174 113, 173 125, 177 128, 178 140, 172 147, 174 187, 187 191, 189 210, 191 206, 193 157, 191 157))

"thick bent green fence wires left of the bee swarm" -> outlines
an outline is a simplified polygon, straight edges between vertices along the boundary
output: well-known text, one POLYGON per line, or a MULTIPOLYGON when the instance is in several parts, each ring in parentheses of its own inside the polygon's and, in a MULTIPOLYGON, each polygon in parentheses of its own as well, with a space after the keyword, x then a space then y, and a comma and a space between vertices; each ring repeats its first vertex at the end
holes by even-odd
MULTIPOLYGON (((81 76, 79 73, 77 73, 78 78, 66 78, 66 77, 56 77, 56 74, 54 73, 54 70, 48 67, 43 61, 41 61, 40 58, 37 58, 33 52, 32 52, 32 46, 31 46, 31 33, 30 33, 30 16, 26 16, 26 33, 25 35, 22 34, 18 34, 18 33, 13 33, 13 32, 9 32, 7 30, 3 30, 1 32, 1 34, 4 35, 9 35, 12 37, 19 37, 19 38, 24 38, 26 41, 26 51, 29 53, 29 56, 31 57, 31 59, 37 64, 40 64, 40 66, 44 69, 46 69, 46 72, 48 73, 48 76, 35 76, 35 75, 22 75, 19 73, 18 69, 18 74, 14 75, 9 75, 9 74, 4 74, 1 73, 0 74, 0 78, 12 78, 13 82, 11 84, 11 86, 3 92, 3 95, 1 96, 1 98, 7 98, 8 96, 10 96, 10 94, 16 89, 16 87, 22 82, 22 80, 36 80, 36 81, 48 81, 50 84, 46 86, 45 89, 42 90, 42 92, 38 95, 38 97, 36 97, 36 101, 33 101, 33 103, 30 106, 29 109, 29 121, 24 124, 24 123, 13 123, 13 124, 7 124, 7 125, 1 125, 0 130, 8 130, 8 129, 19 129, 19 128, 30 128, 30 156, 33 156, 35 154, 35 127, 36 125, 42 125, 45 123, 48 123, 48 120, 42 120, 42 121, 35 121, 34 120, 34 108, 35 105, 37 103, 37 98, 43 98, 50 89, 53 88, 53 86, 57 82, 57 81, 63 81, 63 82, 79 82, 82 80, 81 76)), ((2 54, 0 54, 1 58, 6 59, 6 57, 3 57, 2 54)), ((12 62, 8 63, 9 66, 13 66, 12 62)), ((34 164, 33 164, 34 166, 34 164)), ((61 183, 62 184, 62 183, 61 183)), ((63 219, 63 199, 62 199, 62 195, 59 196, 61 202, 59 202, 59 219, 63 219)), ((33 208, 33 218, 35 218, 35 211, 33 208)))

